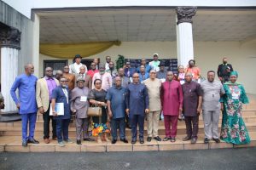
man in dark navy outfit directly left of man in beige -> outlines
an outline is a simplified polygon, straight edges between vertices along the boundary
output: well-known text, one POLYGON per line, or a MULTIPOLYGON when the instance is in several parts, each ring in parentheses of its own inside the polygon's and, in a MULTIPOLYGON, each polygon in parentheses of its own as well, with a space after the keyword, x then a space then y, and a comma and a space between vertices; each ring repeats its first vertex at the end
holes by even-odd
POLYGON ((131 123, 131 144, 137 141, 137 125, 139 127, 140 144, 144 143, 144 117, 148 113, 148 90, 140 83, 139 74, 132 75, 132 83, 128 85, 126 94, 126 114, 131 123))

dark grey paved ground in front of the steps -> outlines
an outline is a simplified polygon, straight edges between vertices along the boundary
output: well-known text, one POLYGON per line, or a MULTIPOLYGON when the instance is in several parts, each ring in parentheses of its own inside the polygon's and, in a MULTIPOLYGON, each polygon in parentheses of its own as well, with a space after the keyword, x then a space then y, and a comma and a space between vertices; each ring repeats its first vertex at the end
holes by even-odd
POLYGON ((5 153, 0 169, 256 169, 256 148, 115 153, 5 153))

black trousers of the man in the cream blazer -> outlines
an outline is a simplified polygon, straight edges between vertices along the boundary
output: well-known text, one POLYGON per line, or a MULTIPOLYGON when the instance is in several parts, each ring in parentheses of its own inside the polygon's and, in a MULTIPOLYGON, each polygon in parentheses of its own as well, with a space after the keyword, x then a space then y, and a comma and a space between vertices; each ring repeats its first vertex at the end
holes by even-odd
MULTIPOLYGON (((49 105, 50 107, 50 105, 49 105)), ((56 120, 53 119, 53 116, 49 116, 49 108, 46 112, 43 114, 44 119, 44 139, 49 139, 49 122, 51 120, 51 126, 52 126, 52 138, 56 138, 56 120)))

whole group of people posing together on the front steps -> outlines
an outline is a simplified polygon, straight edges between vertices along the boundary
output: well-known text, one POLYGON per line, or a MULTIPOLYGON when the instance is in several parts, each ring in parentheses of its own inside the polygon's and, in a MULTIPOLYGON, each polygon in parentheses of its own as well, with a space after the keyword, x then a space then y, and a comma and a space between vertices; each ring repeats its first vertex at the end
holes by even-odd
POLYGON ((195 60, 189 60, 185 69, 178 66, 177 74, 166 71, 154 54, 154 60, 147 64, 131 68, 130 62, 117 71, 113 61, 106 57, 105 64, 98 59, 90 65, 90 70, 81 63, 76 55, 72 65, 64 66, 54 77, 53 69, 46 67, 44 77, 33 76, 34 66, 25 65, 25 74, 16 77, 10 94, 19 109, 22 120, 22 145, 38 144, 34 139, 37 112, 44 118, 44 142, 49 144, 49 122, 52 124, 52 139, 60 146, 73 143, 68 137, 68 125, 71 115, 75 115, 76 143, 84 141, 110 141, 119 139, 128 143, 125 127, 131 127, 131 144, 144 143, 144 122, 147 118, 147 141, 176 141, 177 121, 184 119, 186 136, 183 141, 197 141, 199 116, 202 112, 205 139, 219 143, 218 119, 223 112, 220 139, 232 144, 247 144, 250 138, 241 118, 241 104, 248 99, 241 83, 236 82, 238 74, 233 71, 227 59, 218 66, 219 81, 215 80, 215 71, 207 72, 207 80, 201 82, 200 69, 195 60), (15 91, 19 89, 19 98, 15 91), (58 115, 55 105, 62 103, 64 113, 58 115), (96 105, 102 109, 102 116, 88 116, 88 108, 96 105), (166 136, 161 139, 158 133, 160 114, 164 115, 166 136), (52 116, 51 116, 52 115, 52 116), (91 134, 89 127, 92 127, 91 134), (27 127, 29 133, 27 135, 27 127), (96 137, 93 139, 90 135, 96 137))

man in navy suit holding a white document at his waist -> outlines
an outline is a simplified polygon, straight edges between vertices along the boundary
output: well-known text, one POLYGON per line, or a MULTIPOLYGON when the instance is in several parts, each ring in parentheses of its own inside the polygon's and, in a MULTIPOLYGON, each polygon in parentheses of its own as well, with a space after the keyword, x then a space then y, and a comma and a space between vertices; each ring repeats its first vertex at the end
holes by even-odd
POLYGON ((65 146, 65 143, 73 143, 71 139, 68 139, 68 125, 70 122, 70 91, 67 88, 66 77, 61 77, 60 84, 60 86, 52 91, 52 111, 49 111, 49 115, 52 114, 56 120, 58 144, 60 146, 65 146))

